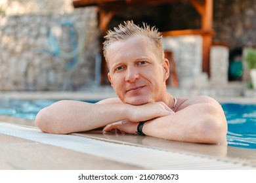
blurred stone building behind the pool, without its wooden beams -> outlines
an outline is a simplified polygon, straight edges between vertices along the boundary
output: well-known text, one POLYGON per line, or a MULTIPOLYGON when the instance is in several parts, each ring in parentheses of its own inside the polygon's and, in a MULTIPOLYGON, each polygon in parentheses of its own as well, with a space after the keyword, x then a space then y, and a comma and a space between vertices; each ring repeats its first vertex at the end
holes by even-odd
MULTIPOLYGON (((125 20, 156 25, 160 31, 201 26, 190 0, 117 10, 107 28, 125 20)), ((242 60, 244 50, 256 45, 256 0, 214 0, 212 20, 209 73, 202 71, 202 35, 163 37, 175 61, 175 90, 248 95, 249 72, 242 60)), ((101 78, 101 37, 96 6, 74 8, 72 0, 0 0, 0 91, 109 86, 101 78)))

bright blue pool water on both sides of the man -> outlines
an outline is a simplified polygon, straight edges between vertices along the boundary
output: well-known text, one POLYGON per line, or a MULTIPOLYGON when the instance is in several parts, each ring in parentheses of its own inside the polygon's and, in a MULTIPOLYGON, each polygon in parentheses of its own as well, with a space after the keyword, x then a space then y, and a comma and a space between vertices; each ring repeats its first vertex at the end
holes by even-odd
MULTIPOLYGON (((0 99, 0 116, 35 119, 37 112, 54 100, 0 99)), ((95 101, 89 101, 95 103, 95 101)), ((228 146, 256 149, 256 105, 221 104, 228 121, 228 146)))

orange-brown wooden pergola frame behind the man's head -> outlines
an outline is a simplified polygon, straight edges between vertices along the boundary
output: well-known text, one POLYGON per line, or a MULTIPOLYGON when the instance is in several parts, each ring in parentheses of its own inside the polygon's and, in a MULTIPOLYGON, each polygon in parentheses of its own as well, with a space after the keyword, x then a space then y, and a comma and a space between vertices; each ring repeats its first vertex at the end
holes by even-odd
MULTIPOLYGON (((213 0, 74 0, 75 8, 98 7, 99 28, 102 36, 106 35, 108 24, 119 10, 128 7, 155 6, 164 3, 184 2, 191 3, 201 16, 201 29, 184 29, 163 32, 163 37, 180 35, 202 35, 202 72, 210 76, 209 54, 214 31, 213 0)), ((102 83, 106 77, 106 63, 102 61, 102 83)))

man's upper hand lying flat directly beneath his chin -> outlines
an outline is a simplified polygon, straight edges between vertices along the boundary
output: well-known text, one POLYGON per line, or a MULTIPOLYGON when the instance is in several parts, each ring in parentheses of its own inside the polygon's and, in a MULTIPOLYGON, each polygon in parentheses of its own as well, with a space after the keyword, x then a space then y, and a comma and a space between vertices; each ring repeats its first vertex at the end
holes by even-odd
POLYGON ((173 110, 163 102, 147 103, 144 105, 129 105, 128 120, 131 122, 143 122, 154 118, 173 114, 173 110))

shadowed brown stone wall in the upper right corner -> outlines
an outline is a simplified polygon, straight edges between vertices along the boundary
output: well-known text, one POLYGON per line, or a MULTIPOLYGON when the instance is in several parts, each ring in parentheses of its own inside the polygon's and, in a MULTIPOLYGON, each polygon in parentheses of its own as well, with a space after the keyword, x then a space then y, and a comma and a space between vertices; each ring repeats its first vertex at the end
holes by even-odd
POLYGON ((226 43, 230 50, 256 46, 256 0, 215 0, 214 41, 226 43))

